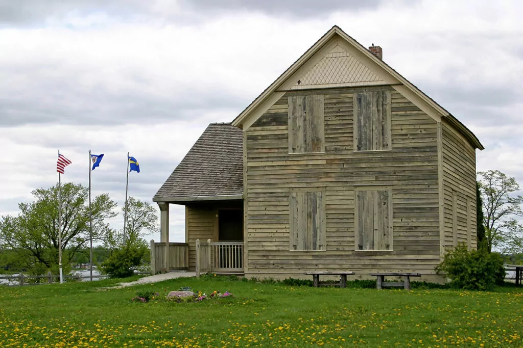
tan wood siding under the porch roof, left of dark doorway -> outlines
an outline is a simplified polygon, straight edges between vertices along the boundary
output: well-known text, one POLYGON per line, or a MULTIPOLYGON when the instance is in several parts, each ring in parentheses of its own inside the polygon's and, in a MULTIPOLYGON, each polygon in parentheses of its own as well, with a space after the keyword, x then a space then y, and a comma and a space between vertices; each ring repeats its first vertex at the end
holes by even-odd
POLYGON ((241 207, 240 201, 187 205, 185 242, 189 244, 189 270, 194 271, 196 267, 196 239, 200 239, 200 242, 207 242, 207 239, 218 241, 218 210, 241 207))

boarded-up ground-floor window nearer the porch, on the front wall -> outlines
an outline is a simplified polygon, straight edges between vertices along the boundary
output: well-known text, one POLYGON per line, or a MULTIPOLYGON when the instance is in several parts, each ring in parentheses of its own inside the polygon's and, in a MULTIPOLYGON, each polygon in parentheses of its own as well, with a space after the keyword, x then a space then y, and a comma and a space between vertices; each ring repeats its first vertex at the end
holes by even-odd
POLYGON ((291 192, 290 249, 325 250, 325 194, 291 192))

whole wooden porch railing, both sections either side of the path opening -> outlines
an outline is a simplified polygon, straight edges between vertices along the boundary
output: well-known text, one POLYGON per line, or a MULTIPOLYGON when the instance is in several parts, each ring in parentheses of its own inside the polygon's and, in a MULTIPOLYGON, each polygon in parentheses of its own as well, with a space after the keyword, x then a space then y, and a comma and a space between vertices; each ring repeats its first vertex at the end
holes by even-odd
MULTIPOLYGON (((189 270, 189 243, 156 243, 151 240, 151 273, 189 270)), ((243 274, 243 242, 196 239, 196 277, 203 273, 243 274)))

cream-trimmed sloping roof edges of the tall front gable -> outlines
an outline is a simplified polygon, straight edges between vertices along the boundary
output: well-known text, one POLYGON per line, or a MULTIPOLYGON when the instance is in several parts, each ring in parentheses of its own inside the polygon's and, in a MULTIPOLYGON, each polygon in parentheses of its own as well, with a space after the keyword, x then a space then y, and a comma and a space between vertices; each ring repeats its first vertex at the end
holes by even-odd
MULTIPOLYGON (((279 99, 281 95, 283 95, 284 92, 280 91, 280 88, 282 85, 286 83, 286 81, 291 78, 295 73, 297 73, 300 68, 304 67, 307 64, 310 64, 312 61, 311 58, 316 53, 319 53, 328 42, 330 42, 332 39, 335 38, 341 38, 343 42, 347 43, 353 49, 366 59, 368 59, 374 66, 377 66, 378 68, 381 68, 381 70, 385 71, 385 73, 398 85, 402 85, 406 88, 406 92, 410 92, 413 97, 417 99, 418 102, 426 104, 428 109, 433 112, 428 112, 429 116, 434 117, 436 121, 440 121, 440 117, 446 118, 446 120, 454 127, 456 128, 470 143, 471 145, 476 148, 483 150, 484 147, 481 145, 481 142, 477 137, 468 129, 465 127, 456 117, 452 116, 447 110, 444 109, 441 105, 436 103, 433 99, 428 97, 425 93, 423 93, 421 90, 419 90, 416 86, 413 85, 410 81, 405 79, 403 76, 401 76, 399 73, 397 73, 396 70, 391 68, 388 64, 383 62, 378 57, 374 56, 369 50, 367 50, 364 46, 362 46, 359 42, 351 38, 349 35, 347 35, 342 29, 340 29, 337 26, 334 26, 331 28, 331 30, 327 31, 323 35, 323 37, 320 38, 320 40, 316 41, 312 47, 306 51, 296 62, 294 62, 283 74, 281 74, 276 81, 272 82, 272 84, 263 91, 251 104, 249 104, 244 111, 240 115, 238 115, 234 121, 232 122, 233 126, 236 127, 244 127, 246 124, 247 127, 252 124, 252 120, 249 122, 249 116, 254 114, 256 110, 261 109, 263 110, 266 107, 269 107, 270 104, 272 104, 272 100, 279 99), (280 92, 281 95, 279 95, 278 98, 274 98, 274 94, 280 92), (272 98, 272 99, 271 99, 272 98), (437 115, 435 117, 434 115, 437 115)), ((394 83, 394 84, 396 84, 394 83)), ((294 83, 292 83, 294 85, 294 83)), ((291 86, 292 86, 291 85, 291 86)), ((398 86, 394 86, 396 89, 399 89, 398 86)), ((289 87, 287 87, 289 88, 289 87)), ((285 91, 285 89, 283 89, 285 91)), ((420 107, 418 105, 418 107, 420 107)), ((422 110, 426 109, 424 107, 420 107, 422 110)), ((265 111, 265 110, 263 110, 265 111)), ((258 115, 259 116, 259 115, 258 115)), ((257 118, 257 117, 255 117, 257 118)), ((255 120, 254 120, 255 121, 255 120)))

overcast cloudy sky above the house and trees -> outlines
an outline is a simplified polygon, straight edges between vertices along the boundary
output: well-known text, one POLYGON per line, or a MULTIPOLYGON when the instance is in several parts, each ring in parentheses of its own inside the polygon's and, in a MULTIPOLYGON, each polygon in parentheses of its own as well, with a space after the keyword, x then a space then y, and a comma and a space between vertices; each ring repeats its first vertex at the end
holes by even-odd
MULTIPOLYGON (((477 169, 523 184, 523 3, 352 0, 0 0, 0 214, 30 191, 125 197, 127 152, 156 190, 211 122, 230 122, 333 25, 444 106, 485 146, 477 169), (364 4, 364 5, 362 5, 364 4)), ((123 218, 112 221, 115 227, 123 218)), ((184 239, 172 206, 170 240, 184 239)), ((150 236, 155 240, 159 235, 150 236)))

